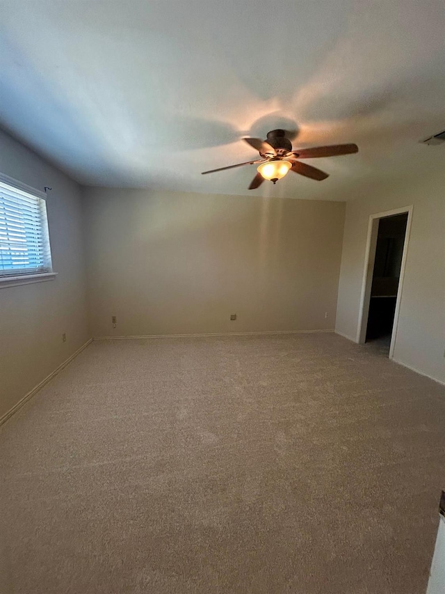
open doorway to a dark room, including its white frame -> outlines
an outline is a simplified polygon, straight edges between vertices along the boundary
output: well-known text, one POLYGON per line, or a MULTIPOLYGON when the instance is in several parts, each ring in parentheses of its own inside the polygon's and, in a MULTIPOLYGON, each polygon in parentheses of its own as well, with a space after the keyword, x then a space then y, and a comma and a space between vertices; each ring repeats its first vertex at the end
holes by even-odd
POLYGON ((374 214, 369 221, 357 342, 392 357, 412 208, 374 214))

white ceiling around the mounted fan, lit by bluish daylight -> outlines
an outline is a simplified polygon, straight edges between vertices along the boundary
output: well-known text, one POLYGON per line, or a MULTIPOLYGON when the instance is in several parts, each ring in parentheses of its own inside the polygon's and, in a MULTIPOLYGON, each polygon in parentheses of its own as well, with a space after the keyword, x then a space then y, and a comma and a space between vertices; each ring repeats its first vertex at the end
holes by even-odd
POLYGON ((443 0, 0 0, 0 125, 87 185, 345 199, 445 128, 443 0), (247 189, 242 136, 355 142, 247 189))

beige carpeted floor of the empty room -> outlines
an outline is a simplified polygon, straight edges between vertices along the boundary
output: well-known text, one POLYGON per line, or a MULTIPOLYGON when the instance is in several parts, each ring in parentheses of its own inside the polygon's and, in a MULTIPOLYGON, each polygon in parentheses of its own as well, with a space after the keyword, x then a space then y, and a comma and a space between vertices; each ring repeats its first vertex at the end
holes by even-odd
POLYGON ((445 388, 334 334, 92 343, 0 430, 7 594, 424 594, 445 388))

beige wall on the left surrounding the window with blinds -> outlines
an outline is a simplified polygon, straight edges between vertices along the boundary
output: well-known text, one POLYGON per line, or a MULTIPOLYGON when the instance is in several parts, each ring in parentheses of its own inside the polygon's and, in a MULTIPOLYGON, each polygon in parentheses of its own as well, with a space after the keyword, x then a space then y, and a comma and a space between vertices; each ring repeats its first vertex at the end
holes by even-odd
POLYGON ((0 171, 48 193, 54 281, 0 287, 0 417, 85 343, 86 274, 76 183, 0 132, 0 171), (67 342, 62 342, 62 334, 67 342))

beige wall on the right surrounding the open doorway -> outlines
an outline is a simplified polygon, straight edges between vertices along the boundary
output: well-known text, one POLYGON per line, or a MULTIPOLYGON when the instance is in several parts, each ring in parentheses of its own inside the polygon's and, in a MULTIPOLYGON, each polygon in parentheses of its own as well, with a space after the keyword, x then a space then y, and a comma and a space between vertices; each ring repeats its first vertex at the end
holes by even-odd
POLYGON ((394 359, 445 382, 444 153, 414 150, 403 175, 357 188, 346 207, 336 329, 355 340, 369 215, 413 205, 394 359))

